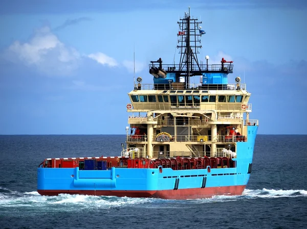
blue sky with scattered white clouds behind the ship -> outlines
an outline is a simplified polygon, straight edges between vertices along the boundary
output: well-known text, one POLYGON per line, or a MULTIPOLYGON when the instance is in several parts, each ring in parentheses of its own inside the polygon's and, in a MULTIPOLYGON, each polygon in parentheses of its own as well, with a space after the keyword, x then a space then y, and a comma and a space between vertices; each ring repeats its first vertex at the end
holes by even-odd
POLYGON ((258 134, 307 134, 303 0, 2 0, 0 134, 125 134, 134 76, 178 63, 189 7, 206 31, 199 59, 233 61, 258 134))

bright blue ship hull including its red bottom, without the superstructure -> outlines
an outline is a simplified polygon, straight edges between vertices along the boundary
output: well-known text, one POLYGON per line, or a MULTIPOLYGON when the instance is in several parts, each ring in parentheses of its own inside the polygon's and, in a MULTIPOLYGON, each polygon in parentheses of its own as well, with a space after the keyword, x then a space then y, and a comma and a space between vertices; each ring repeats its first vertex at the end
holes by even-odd
POLYGON ((69 193, 168 199, 240 195, 249 181, 257 128, 248 126, 249 141, 236 143, 235 168, 38 168, 37 190, 41 195, 69 193))

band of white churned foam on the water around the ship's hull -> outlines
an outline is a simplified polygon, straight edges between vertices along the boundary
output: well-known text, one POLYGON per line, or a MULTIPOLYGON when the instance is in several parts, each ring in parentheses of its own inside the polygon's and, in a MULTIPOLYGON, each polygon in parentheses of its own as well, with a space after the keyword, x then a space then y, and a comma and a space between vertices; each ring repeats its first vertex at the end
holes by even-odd
MULTIPOLYGON (((3 189, 3 188, 2 188, 3 189)), ((237 201, 242 198, 279 198, 279 197, 306 197, 306 190, 274 190, 274 189, 246 189, 240 196, 220 195, 206 199, 191 199, 189 202, 210 203, 220 201, 237 201)), ((153 198, 129 198, 116 196, 90 196, 69 195, 41 196, 36 191, 20 193, 7 189, 6 193, 0 193, 0 206, 2 207, 43 207, 46 206, 82 206, 82 208, 113 208, 125 206, 138 206, 143 203, 157 203, 161 201, 182 202, 182 200, 167 200, 153 198)), ((156 204, 155 204, 156 205, 156 204)))

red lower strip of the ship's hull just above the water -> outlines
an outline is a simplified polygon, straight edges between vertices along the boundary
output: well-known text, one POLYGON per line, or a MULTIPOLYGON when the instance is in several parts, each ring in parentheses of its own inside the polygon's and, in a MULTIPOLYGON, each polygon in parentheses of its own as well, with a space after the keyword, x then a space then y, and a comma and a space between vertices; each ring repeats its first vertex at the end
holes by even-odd
POLYGON ((106 191, 106 190, 37 190, 40 195, 55 196, 58 194, 80 194, 96 196, 118 196, 118 197, 151 197, 161 199, 200 199, 210 198, 215 195, 241 195, 245 185, 194 188, 161 191, 106 191))

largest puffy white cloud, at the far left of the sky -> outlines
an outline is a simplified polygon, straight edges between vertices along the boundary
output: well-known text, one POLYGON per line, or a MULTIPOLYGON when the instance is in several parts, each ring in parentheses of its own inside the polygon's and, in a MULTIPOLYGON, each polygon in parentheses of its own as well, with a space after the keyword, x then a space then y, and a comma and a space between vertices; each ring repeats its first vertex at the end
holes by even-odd
POLYGON ((34 32, 29 42, 11 44, 4 58, 35 66, 43 74, 69 75, 78 68, 80 55, 60 42, 49 27, 42 27, 34 32))

